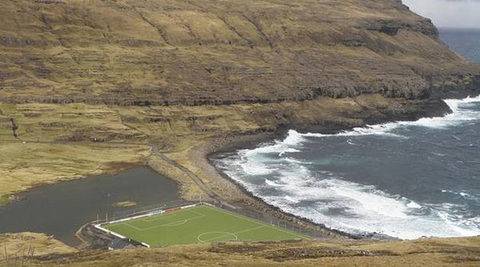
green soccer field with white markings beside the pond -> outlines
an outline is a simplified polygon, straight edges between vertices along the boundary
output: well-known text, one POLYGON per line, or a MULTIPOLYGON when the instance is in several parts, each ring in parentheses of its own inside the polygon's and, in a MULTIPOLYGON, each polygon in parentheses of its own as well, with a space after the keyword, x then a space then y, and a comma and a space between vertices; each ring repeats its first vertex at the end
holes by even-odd
POLYGON ((308 238, 207 205, 104 224, 102 227, 151 247, 229 240, 266 241, 308 238))

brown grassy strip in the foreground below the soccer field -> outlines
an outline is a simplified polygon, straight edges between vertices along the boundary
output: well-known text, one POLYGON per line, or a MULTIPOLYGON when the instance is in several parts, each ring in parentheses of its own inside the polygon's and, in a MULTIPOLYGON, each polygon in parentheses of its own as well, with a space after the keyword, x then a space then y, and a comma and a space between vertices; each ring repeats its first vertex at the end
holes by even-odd
MULTIPOLYGON (((480 239, 392 242, 278 242, 84 251, 40 257, 28 266, 478 266, 480 239)), ((1 265, 1 263, 0 263, 1 265)))

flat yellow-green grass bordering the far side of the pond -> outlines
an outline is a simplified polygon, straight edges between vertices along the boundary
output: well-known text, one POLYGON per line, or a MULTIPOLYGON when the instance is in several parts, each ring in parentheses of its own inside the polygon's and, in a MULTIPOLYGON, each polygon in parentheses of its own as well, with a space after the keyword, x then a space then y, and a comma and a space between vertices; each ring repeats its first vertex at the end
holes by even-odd
POLYGON ((148 147, 94 144, 3 143, 0 146, 0 196, 34 186, 118 171, 112 162, 141 164, 148 147))

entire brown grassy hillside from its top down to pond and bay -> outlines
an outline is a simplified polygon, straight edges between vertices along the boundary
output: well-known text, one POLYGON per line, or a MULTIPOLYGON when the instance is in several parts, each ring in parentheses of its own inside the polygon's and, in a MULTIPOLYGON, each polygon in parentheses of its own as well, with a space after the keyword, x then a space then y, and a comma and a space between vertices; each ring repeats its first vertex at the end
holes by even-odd
POLYGON ((425 97, 463 92, 480 77, 430 21, 396 0, 0 7, 2 203, 32 186, 144 162, 203 194, 149 157, 152 146, 224 191, 230 183, 212 179, 194 147, 287 127, 438 114, 445 106, 425 97), (405 100, 412 98, 421 99, 405 100))

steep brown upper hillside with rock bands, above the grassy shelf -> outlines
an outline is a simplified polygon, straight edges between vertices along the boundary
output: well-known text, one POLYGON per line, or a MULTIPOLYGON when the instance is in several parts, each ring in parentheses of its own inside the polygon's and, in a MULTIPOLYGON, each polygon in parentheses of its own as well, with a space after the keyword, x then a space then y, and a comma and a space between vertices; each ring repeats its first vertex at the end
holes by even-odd
POLYGON ((202 105, 478 85, 399 0, 5 0, 0 101, 202 105))

